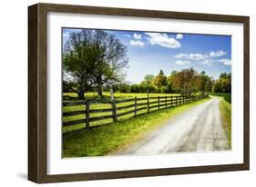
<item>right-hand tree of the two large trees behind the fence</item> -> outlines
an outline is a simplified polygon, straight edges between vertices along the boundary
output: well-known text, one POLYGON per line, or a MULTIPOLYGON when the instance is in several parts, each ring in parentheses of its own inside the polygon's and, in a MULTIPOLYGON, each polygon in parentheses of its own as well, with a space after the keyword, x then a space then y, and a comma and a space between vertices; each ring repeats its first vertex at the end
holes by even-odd
POLYGON ((102 96, 102 85, 113 85, 124 80, 124 68, 127 67, 127 46, 112 34, 97 30, 96 47, 100 50, 94 67, 93 77, 97 84, 97 94, 102 96))

